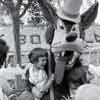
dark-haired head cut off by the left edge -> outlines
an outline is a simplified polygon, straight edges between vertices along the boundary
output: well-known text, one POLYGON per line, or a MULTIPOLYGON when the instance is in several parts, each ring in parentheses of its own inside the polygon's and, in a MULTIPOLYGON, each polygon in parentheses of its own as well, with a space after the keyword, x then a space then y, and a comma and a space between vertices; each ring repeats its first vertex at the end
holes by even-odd
POLYGON ((4 61, 6 60, 8 52, 8 46, 6 42, 0 39, 0 67, 3 65, 4 61))

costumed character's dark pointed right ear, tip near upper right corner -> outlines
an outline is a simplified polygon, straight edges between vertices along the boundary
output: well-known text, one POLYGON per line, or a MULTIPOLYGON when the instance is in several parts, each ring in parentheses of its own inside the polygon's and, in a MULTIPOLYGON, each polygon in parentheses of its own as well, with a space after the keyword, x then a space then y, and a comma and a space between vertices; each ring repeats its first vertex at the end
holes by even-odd
POLYGON ((80 27, 84 31, 89 28, 89 26, 94 22, 97 12, 98 12, 99 3, 96 1, 85 13, 81 15, 80 27))

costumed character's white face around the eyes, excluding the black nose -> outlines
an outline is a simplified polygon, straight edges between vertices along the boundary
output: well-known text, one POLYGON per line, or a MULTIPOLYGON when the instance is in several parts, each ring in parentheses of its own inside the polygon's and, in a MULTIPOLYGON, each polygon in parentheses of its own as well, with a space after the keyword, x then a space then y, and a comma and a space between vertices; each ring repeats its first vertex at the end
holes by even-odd
POLYGON ((62 44, 66 44, 66 37, 70 32, 77 33, 79 37, 79 24, 74 24, 72 26, 66 26, 62 20, 57 21, 57 29, 54 33, 54 38, 52 42, 52 46, 59 46, 62 44), (71 28, 70 31, 68 31, 71 28))

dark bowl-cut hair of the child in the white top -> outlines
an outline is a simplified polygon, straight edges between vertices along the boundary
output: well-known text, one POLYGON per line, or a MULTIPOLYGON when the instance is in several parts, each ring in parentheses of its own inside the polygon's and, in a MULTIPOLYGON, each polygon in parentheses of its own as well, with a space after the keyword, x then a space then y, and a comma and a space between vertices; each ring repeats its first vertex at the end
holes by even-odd
POLYGON ((34 48, 28 55, 32 64, 38 62, 39 57, 48 57, 47 50, 43 48, 34 48))

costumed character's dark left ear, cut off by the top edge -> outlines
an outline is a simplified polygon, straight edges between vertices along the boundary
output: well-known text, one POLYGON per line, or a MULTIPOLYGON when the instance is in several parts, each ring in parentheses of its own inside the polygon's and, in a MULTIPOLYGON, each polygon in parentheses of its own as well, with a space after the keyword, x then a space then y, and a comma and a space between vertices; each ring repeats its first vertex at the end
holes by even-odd
POLYGON ((50 2, 48 0, 37 0, 37 2, 39 3, 44 17, 47 19, 47 21, 54 25, 54 27, 56 27, 57 15, 50 2))

